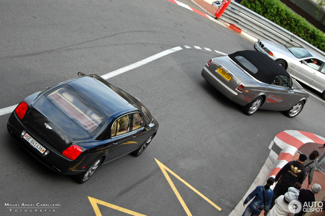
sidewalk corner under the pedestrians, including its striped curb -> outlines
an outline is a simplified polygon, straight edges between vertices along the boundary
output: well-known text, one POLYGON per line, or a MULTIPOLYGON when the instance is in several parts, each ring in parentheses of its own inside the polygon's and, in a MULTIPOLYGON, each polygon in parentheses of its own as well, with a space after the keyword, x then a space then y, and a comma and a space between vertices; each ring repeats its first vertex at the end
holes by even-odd
MULTIPOLYGON (((279 170, 289 161, 296 160, 299 157, 299 154, 303 153, 309 155, 313 150, 317 150, 321 154, 324 149, 318 148, 323 146, 325 143, 325 138, 319 135, 303 132, 303 131, 293 131, 287 130, 277 134, 273 141, 271 142, 269 149, 270 154, 266 159, 265 164, 263 165, 258 176, 254 180, 251 187, 248 189, 247 193, 237 204, 235 209, 229 214, 229 216, 241 216, 245 211, 245 208, 242 204, 244 199, 250 194, 256 186, 265 185, 266 179, 270 176, 275 177, 279 170)), ((320 184, 322 189, 318 194, 315 194, 315 199, 318 198, 321 201, 325 197, 325 165, 322 166, 322 172, 315 171, 312 184, 320 184)), ((302 184, 302 188, 306 188, 308 184, 308 177, 302 184)), ((274 185, 272 185, 274 188, 274 185)), ((263 211, 260 215, 263 215, 263 211)))

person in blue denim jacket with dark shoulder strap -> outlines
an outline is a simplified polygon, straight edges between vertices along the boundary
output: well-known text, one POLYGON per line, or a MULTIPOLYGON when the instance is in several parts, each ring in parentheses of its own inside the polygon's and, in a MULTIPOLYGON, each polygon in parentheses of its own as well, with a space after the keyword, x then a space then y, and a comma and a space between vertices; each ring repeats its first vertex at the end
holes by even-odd
POLYGON ((273 177, 269 177, 266 181, 266 185, 257 186, 252 193, 250 193, 244 200, 243 206, 245 206, 251 199, 252 202, 247 206, 242 216, 257 216, 264 209, 264 215, 267 215, 268 209, 271 205, 271 200, 273 197, 273 191, 270 186, 275 182, 273 177), (264 191, 264 199, 263 199, 264 191), (264 204, 265 203, 265 204, 264 204))

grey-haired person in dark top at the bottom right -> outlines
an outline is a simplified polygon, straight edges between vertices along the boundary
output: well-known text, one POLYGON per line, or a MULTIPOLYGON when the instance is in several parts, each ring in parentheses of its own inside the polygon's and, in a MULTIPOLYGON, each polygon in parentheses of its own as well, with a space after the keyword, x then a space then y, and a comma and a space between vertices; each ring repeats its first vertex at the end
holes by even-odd
MULTIPOLYGON (((298 200, 301 202, 301 205, 304 206, 306 203, 308 206, 313 206, 313 202, 315 202, 315 194, 318 194, 321 189, 322 187, 320 184, 313 184, 311 190, 300 189, 298 200)), ((306 209, 302 208, 302 210, 299 213, 294 214, 294 216, 302 216, 306 212, 304 210, 306 209)))

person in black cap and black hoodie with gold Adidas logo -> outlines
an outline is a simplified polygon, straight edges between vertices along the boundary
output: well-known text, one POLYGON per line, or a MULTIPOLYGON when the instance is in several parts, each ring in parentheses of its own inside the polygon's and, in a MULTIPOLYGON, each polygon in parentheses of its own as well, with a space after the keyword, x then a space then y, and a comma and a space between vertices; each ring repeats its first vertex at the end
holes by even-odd
POLYGON ((288 162, 275 176, 275 182, 277 182, 277 184, 273 189, 271 207, 274 206, 275 199, 280 195, 284 195, 288 191, 288 188, 292 187, 293 184, 296 182, 303 184, 306 177, 306 169, 303 163, 306 161, 306 159, 307 156, 300 154, 298 160, 288 162))

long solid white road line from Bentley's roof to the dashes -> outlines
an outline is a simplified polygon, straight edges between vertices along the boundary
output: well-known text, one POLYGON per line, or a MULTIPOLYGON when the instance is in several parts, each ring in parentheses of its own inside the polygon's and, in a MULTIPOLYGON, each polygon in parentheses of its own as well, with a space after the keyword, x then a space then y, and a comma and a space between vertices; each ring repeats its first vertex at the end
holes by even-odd
POLYGON ((114 71, 112 71, 112 72, 110 72, 110 73, 104 74, 104 75, 102 75, 101 77, 104 78, 105 80, 107 80, 107 79, 112 78, 112 77, 114 77, 114 76, 117 76, 117 75, 119 75, 119 74, 121 74, 121 73, 124 73, 124 72, 126 72, 126 71, 129 71, 129 70, 135 69, 135 68, 140 67, 140 66, 142 66, 142 65, 145 65, 145 64, 147 64, 147 63, 149 63, 149 62, 151 62, 151 61, 153 61, 153 60, 156 60, 156 59, 158 59, 158 58, 161 58, 161 57, 167 56, 168 54, 171 54, 171 53, 177 52, 177 51, 182 50, 182 49, 183 49, 182 47, 180 47, 180 46, 176 46, 176 47, 174 47, 174 48, 171 48, 171 49, 168 49, 168 50, 162 51, 161 53, 157 53, 157 54, 155 54, 155 55, 153 55, 153 56, 150 56, 150 57, 148 57, 148 58, 145 58, 145 59, 143 59, 143 60, 141 60, 141 61, 138 61, 138 62, 136 62, 136 63, 133 63, 133 64, 131 64, 131 65, 128 65, 128 66, 125 66, 125 67, 120 68, 120 69, 118 69, 118 70, 114 70, 114 71))

